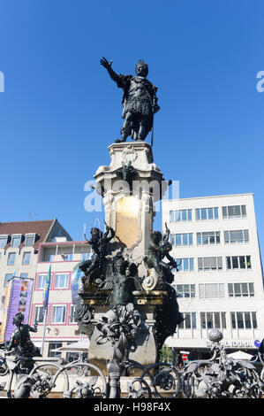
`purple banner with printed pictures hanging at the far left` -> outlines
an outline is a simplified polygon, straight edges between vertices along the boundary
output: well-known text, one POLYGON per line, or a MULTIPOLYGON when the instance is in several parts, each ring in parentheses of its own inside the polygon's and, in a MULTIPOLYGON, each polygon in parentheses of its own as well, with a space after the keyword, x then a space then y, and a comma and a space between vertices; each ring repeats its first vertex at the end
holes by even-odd
POLYGON ((9 341, 12 332, 16 329, 12 323, 16 313, 22 312, 25 317, 24 323, 28 323, 27 320, 29 317, 32 288, 33 281, 16 277, 11 280, 11 295, 7 312, 4 341, 9 341))

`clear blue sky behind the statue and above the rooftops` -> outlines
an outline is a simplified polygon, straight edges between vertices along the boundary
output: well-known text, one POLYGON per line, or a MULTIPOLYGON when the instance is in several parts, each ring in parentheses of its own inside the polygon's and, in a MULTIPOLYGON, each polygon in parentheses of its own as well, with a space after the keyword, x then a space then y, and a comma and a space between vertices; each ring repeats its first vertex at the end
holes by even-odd
POLYGON ((134 73, 143 58, 161 105, 155 163, 180 197, 253 192, 263 250, 262 0, 8 0, 0 15, 0 221, 34 211, 82 239, 98 217, 84 185, 122 125, 99 59, 134 73))

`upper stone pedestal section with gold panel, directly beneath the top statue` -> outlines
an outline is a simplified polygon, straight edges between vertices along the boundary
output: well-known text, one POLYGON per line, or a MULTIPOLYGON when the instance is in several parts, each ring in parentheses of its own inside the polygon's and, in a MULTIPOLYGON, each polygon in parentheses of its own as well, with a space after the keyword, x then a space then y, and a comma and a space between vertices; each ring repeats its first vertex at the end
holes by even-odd
POLYGON ((169 182, 155 165, 148 143, 113 143, 109 154, 109 166, 94 174, 102 189, 105 221, 116 232, 115 249, 125 249, 132 261, 139 261, 147 254, 154 203, 169 182))

